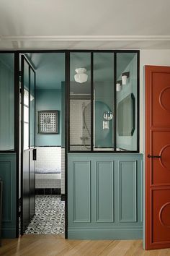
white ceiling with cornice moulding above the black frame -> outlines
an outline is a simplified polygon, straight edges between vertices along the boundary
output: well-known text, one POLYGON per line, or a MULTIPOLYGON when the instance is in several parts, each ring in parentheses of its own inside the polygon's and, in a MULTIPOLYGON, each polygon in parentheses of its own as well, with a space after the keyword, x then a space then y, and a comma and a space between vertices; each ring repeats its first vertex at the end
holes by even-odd
POLYGON ((169 10, 169 0, 0 0, 0 48, 170 48, 169 10))

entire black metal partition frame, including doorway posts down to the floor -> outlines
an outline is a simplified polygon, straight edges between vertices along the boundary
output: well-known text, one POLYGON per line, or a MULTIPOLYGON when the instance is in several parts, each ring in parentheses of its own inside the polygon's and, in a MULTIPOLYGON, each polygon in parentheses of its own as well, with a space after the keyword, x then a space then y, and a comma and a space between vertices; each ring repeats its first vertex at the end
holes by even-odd
MULTIPOLYGON (((17 50, 17 51, 0 51, 1 54, 14 54, 14 150, 0 150, 0 153, 16 153, 16 169, 17 169, 17 186, 16 186, 16 196, 17 196, 17 214, 16 214, 16 224, 17 231, 16 237, 19 236, 19 55, 26 53, 35 53, 35 54, 57 54, 63 53, 65 54, 65 238, 68 238, 68 153, 139 153, 139 65, 140 65, 140 51, 139 50, 17 50), (68 145, 70 142, 70 137, 68 134, 68 125, 70 121, 69 116, 69 90, 70 90, 70 53, 71 52, 89 52, 91 53, 91 62, 93 62, 93 54, 95 52, 101 53, 114 53, 115 56, 117 53, 136 53, 137 54, 137 101, 138 101, 138 112, 137 112, 137 140, 138 147, 136 151, 69 151, 68 145)), ((116 74, 116 58, 114 62, 115 66, 115 74, 116 74)), ((92 75, 91 82, 93 80, 93 66, 91 67, 92 75)), ((116 83, 116 76, 115 81, 116 83)), ((92 83, 93 85, 93 83, 92 83)), ((91 93, 93 93, 93 87, 91 86, 91 93)), ((116 87, 115 87, 116 92, 116 87)), ((36 97, 36 95, 35 95, 36 97)), ((93 103, 92 103, 93 104, 93 103)), ((116 102, 115 102, 116 106, 116 102)), ((91 109, 91 117, 93 118, 93 109, 91 109)), ((116 124, 115 124, 116 125, 116 124)), ((91 134, 93 134, 93 124, 91 125, 91 134)), ((93 140, 91 138, 91 145, 93 145, 93 140)), ((92 147, 91 147, 92 148, 92 147)))

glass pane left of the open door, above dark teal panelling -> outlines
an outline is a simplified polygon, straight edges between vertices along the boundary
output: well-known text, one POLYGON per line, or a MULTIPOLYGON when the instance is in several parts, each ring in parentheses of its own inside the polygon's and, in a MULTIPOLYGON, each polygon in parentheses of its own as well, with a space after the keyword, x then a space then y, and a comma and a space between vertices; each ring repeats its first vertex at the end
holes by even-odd
POLYGON ((14 54, 0 54, 0 150, 14 150, 14 54))

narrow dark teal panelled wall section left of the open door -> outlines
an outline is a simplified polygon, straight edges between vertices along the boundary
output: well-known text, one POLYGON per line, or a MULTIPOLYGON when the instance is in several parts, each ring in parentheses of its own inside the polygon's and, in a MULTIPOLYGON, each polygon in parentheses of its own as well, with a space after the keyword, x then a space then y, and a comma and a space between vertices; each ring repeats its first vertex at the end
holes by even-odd
POLYGON ((3 238, 16 237, 16 154, 0 153, 0 178, 2 192, 2 228, 3 238))

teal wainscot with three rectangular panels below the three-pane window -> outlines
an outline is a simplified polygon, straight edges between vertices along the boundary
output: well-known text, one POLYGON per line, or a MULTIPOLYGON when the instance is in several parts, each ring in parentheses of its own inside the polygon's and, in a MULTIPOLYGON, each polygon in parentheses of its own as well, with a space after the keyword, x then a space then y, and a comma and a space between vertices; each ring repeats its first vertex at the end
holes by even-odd
POLYGON ((68 154, 68 239, 142 239, 143 156, 68 154))

